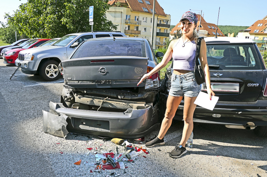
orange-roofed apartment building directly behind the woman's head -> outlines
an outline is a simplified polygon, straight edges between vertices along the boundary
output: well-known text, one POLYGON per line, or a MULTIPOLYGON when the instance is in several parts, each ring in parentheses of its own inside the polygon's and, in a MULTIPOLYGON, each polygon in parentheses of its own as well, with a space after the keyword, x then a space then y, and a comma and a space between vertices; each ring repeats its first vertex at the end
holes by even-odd
MULTIPOLYGON (((225 36, 222 31, 217 27, 217 25, 213 24, 213 23, 208 23, 204 20, 204 18, 200 15, 197 14, 198 16, 198 24, 196 27, 196 30, 199 30, 199 35, 200 36, 205 36, 205 37, 212 37, 216 35, 216 31, 217 31, 217 36, 222 37, 225 36), (201 20, 200 20, 201 18, 201 20)), ((179 34, 182 33, 181 31, 181 22, 179 22, 170 32, 170 38, 172 39, 174 37, 175 34, 179 34)))

